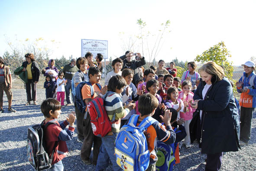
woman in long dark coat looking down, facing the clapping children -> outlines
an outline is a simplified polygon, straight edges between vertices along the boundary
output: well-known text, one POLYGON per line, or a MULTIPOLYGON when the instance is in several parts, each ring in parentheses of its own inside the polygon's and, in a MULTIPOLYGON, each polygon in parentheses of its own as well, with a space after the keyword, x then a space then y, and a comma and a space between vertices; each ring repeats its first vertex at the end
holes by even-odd
POLYGON ((218 171, 222 152, 236 152, 240 148, 238 110, 223 68, 215 62, 207 62, 199 73, 201 83, 192 105, 200 110, 201 129, 198 134, 201 151, 207 154, 205 170, 218 171))

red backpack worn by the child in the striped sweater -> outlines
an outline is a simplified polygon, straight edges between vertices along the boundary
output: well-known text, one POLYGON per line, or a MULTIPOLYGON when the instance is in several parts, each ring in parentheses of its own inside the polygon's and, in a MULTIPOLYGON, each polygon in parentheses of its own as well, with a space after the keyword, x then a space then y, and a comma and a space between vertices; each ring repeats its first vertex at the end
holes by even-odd
POLYGON ((87 113, 90 114, 91 128, 95 136, 104 137, 111 131, 112 122, 115 120, 115 115, 110 122, 107 116, 106 109, 104 107, 104 99, 107 96, 111 96, 113 93, 110 91, 104 94, 103 97, 96 97, 87 104, 88 110, 84 116, 86 118, 87 113))

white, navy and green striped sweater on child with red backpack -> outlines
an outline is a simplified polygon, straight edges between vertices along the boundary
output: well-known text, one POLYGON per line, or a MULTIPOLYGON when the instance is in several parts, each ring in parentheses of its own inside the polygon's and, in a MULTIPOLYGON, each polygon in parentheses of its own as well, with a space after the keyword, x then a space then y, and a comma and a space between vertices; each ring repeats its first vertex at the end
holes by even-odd
POLYGON ((110 121, 115 116, 115 120, 112 122, 111 126, 112 132, 119 132, 121 118, 125 117, 130 112, 130 110, 127 108, 123 109, 123 102, 120 94, 111 91, 109 91, 108 93, 113 94, 106 97, 106 99, 104 100, 104 106, 110 121))

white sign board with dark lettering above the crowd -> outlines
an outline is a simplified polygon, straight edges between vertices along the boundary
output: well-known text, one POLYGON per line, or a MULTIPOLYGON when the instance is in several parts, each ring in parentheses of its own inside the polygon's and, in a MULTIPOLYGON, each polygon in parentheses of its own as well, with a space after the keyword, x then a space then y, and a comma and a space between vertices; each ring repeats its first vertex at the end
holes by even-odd
POLYGON ((97 53, 101 53, 103 58, 107 59, 107 40, 82 39, 82 57, 87 52, 91 52, 94 58, 97 53))

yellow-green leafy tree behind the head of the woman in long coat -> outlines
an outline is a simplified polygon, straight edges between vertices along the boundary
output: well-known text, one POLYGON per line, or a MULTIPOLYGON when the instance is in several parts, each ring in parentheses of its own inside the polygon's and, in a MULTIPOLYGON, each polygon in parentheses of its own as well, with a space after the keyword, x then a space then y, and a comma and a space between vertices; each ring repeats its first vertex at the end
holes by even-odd
POLYGON ((232 62, 228 61, 230 58, 230 52, 227 50, 224 42, 219 42, 217 45, 204 51, 202 55, 197 55, 195 61, 205 63, 207 61, 214 61, 217 65, 220 65, 225 72, 226 77, 232 80, 233 66, 232 62))

